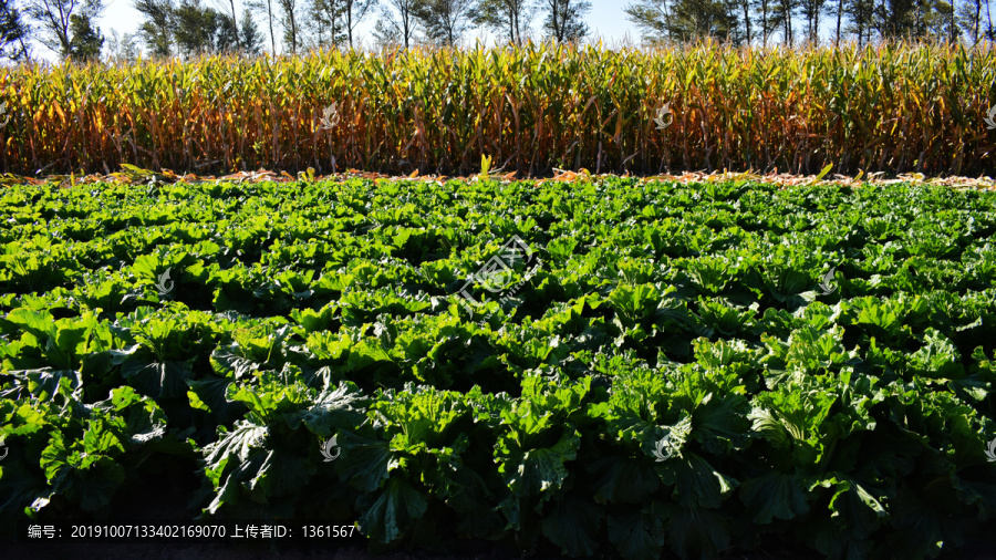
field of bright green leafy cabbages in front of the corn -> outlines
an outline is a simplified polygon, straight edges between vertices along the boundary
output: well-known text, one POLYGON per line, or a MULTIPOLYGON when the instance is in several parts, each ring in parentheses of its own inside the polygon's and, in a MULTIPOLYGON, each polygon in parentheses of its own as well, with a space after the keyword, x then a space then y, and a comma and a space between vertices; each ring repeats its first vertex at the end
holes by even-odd
POLYGON ((994 193, 153 179, 0 224, 8 532, 168 491, 374 547, 923 558, 996 514, 994 193))

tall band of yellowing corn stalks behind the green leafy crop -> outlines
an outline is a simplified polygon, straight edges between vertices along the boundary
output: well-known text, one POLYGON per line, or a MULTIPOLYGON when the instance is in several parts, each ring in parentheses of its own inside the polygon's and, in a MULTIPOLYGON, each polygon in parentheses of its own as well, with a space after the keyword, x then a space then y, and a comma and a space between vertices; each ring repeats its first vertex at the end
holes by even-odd
POLYGON ((553 168, 974 175, 996 50, 882 44, 313 53, 0 71, 21 175, 553 168), (333 106, 334 103, 334 106, 333 106), (665 126, 655 123, 664 117, 665 126))

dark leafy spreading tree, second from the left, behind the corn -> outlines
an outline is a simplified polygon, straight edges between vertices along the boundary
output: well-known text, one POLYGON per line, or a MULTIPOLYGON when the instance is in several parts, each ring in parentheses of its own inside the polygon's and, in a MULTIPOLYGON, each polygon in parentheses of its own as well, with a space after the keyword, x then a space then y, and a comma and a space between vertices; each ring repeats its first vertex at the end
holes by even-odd
MULTIPOLYGON (((24 4, 24 13, 41 31, 39 41, 66 59, 73 56, 73 30, 84 33, 92 31, 98 37, 100 33, 94 31, 92 22, 97 20, 103 11, 101 0, 27 0, 24 4), (84 19, 74 25, 73 15, 84 19)), ((85 39, 94 40, 90 37, 85 39)), ((90 43, 77 41, 76 45, 87 48, 90 43)))

